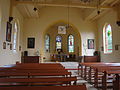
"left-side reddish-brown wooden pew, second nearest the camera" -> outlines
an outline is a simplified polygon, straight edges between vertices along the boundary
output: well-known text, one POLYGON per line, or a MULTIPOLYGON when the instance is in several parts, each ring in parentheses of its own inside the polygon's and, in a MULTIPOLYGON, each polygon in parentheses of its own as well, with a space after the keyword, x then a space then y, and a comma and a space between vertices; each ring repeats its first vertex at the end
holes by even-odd
POLYGON ((70 84, 76 77, 46 77, 46 78, 0 78, 0 86, 21 86, 21 85, 62 85, 70 84))

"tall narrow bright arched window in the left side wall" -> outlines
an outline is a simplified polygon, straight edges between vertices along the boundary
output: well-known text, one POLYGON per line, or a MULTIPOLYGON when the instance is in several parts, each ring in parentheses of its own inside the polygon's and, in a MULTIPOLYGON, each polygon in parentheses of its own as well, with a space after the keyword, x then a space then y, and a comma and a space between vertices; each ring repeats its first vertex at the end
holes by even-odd
POLYGON ((17 37, 18 37, 18 24, 17 22, 14 23, 14 33, 13 33, 13 51, 17 50, 17 37))

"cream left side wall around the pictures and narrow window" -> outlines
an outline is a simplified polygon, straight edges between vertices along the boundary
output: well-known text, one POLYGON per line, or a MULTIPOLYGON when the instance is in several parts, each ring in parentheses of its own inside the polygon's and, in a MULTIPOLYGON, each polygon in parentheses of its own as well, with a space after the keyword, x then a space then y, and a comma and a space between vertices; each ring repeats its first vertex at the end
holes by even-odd
MULTIPOLYGON (((6 42, 6 24, 9 20, 10 0, 0 0, 0 9, 0 65, 13 64, 16 61, 20 61, 20 52, 13 53, 13 50, 10 50, 8 45, 9 42, 6 42), (6 42, 6 49, 3 49, 3 42, 6 42)), ((16 8, 13 9, 13 17, 18 18, 20 23, 23 22, 23 18, 16 8)), ((10 43, 13 43, 13 30, 11 39, 10 43)))

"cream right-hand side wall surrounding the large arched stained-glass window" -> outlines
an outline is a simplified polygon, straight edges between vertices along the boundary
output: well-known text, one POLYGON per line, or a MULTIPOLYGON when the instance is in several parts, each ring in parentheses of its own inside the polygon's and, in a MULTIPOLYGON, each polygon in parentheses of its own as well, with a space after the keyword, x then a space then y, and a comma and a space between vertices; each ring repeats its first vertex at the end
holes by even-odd
POLYGON ((103 46, 103 27, 106 23, 110 24, 113 33, 113 52, 111 54, 104 54, 101 51, 101 59, 103 62, 120 62, 120 47, 119 50, 115 50, 115 45, 120 44, 120 27, 116 24, 117 13, 114 10, 110 10, 98 20, 98 32, 99 32, 99 50, 103 46))

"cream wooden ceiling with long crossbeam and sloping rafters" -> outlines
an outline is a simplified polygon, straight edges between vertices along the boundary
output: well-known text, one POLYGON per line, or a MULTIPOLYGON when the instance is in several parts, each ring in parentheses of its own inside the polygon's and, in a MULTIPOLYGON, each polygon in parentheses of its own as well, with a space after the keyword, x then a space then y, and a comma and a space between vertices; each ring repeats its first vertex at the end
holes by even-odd
POLYGON ((39 17, 39 10, 44 6, 49 7, 72 7, 84 10, 84 20, 96 20, 120 0, 91 0, 90 3, 83 3, 81 0, 11 0, 12 6, 16 6, 25 18, 39 17), (98 15, 97 6, 100 8, 98 15), (37 7, 37 11, 33 10, 37 7))

